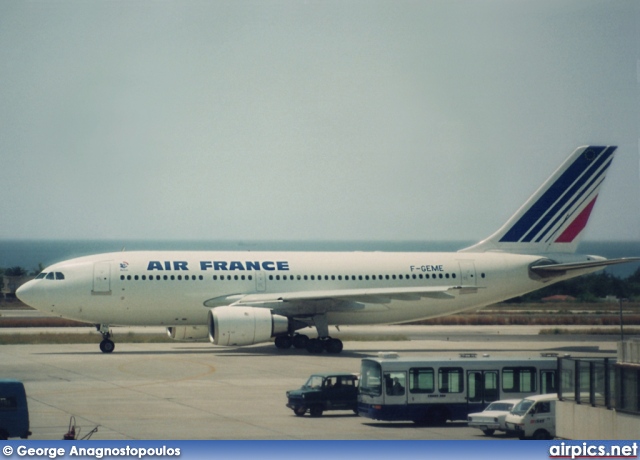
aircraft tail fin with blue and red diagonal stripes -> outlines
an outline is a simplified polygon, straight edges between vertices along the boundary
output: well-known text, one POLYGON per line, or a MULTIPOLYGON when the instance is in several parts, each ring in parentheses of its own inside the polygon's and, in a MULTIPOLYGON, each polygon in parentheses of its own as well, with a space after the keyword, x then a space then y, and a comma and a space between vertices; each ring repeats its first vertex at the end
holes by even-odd
POLYGON ((616 148, 577 148, 506 224, 460 252, 574 253, 616 148))

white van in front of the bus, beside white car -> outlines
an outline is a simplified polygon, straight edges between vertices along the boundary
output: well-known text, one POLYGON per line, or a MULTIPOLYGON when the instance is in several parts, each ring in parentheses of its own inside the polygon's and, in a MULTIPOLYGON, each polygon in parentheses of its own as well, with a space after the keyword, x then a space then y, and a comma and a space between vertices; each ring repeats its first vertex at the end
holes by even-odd
POLYGON ((520 439, 553 439, 556 436, 558 395, 527 396, 507 414, 507 432, 520 439))

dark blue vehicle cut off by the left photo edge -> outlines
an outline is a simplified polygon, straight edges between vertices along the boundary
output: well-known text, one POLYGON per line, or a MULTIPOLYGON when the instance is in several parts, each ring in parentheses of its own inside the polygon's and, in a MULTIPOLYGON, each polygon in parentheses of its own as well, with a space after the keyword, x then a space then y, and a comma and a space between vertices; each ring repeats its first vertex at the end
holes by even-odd
POLYGON ((0 439, 27 439, 30 435, 24 385, 18 380, 0 379, 0 439))

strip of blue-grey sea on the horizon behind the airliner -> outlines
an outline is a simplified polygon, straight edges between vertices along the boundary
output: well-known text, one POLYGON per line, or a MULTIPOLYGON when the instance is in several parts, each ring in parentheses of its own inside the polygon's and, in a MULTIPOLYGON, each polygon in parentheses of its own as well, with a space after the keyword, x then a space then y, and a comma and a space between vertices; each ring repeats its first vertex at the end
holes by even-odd
MULTIPOLYGON (((103 252, 138 250, 193 251, 384 251, 453 252, 474 241, 232 241, 232 240, 0 240, 0 268, 23 267, 37 272, 42 265, 103 252)), ((640 241, 584 241, 578 252, 616 257, 640 256, 640 241)), ((605 270, 626 278, 640 268, 639 262, 605 270)))

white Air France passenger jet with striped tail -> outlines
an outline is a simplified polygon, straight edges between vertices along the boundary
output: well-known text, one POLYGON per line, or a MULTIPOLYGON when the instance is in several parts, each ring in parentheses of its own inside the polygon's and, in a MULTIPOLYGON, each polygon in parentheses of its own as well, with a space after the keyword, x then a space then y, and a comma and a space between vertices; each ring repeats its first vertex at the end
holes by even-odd
POLYGON ((576 254, 615 146, 577 148, 495 233, 457 252, 132 251, 47 267, 18 298, 96 325, 164 326, 176 340, 340 353, 341 325, 477 309, 640 257, 576 254), (317 338, 299 333, 315 327, 317 338))

